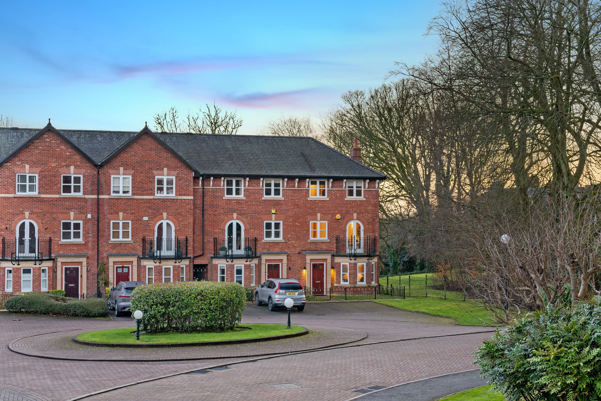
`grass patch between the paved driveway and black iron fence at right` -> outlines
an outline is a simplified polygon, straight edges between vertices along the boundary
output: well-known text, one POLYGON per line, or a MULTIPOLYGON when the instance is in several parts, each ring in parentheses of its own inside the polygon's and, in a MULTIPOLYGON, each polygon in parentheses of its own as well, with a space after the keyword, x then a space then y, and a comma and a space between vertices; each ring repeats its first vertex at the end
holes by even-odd
POLYGON ((417 297, 407 299, 377 300, 377 303, 394 306, 411 312, 423 312, 430 315, 450 317, 458 325, 484 326, 491 322, 489 311, 472 300, 440 299, 433 297, 417 297), (481 322, 478 319, 483 319, 481 322))

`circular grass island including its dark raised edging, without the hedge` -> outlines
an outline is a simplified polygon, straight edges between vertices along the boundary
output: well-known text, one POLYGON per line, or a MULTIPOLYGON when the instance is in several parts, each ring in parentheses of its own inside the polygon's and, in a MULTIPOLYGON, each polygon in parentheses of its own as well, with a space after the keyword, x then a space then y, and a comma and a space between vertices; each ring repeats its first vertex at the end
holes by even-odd
POLYGON ((286 325, 240 325, 234 330, 223 332, 165 332, 140 333, 136 340, 136 331, 132 328, 88 331, 77 335, 77 343, 105 347, 177 347, 207 346, 219 344, 254 343, 257 341, 279 340, 308 334, 301 326, 286 325))

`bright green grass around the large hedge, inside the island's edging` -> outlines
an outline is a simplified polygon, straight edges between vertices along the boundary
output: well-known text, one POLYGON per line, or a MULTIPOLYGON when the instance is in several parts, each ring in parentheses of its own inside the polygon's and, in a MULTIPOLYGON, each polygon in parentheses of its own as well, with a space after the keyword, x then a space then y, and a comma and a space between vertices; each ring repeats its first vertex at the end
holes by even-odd
POLYGON ((115 344, 172 344, 172 343, 200 343, 203 341, 226 341, 243 340, 248 338, 270 337, 273 335, 291 334, 304 331, 301 326, 290 326, 286 329, 285 325, 241 325, 240 327, 251 328, 250 330, 231 330, 221 333, 158 333, 141 334, 140 339, 136 340, 135 329, 110 329, 90 331, 78 335, 79 340, 91 341, 94 343, 115 343, 115 344), (134 333, 132 334, 132 331, 134 333))

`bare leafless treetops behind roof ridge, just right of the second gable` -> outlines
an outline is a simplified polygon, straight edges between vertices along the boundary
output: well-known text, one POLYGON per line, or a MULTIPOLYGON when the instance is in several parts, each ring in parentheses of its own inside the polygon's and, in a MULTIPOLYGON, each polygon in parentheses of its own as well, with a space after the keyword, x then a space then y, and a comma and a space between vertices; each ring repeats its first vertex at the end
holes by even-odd
POLYGON ((196 134, 234 135, 242 126, 242 119, 236 111, 227 111, 213 102, 200 108, 198 113, 188 114, 180 119, 177 108, 154 114, 154 126, 160 132, 195 132, 196 134))

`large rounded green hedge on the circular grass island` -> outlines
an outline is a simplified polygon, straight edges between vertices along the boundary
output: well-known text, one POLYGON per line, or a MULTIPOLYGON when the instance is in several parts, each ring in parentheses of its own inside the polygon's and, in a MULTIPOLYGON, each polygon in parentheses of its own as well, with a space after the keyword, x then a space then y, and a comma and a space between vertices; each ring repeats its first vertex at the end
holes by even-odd
POLYGON ((235 282, 156 283, 136 287, 130 301, 147 331, 219 332, 240 323, 246 291, 235 282))

